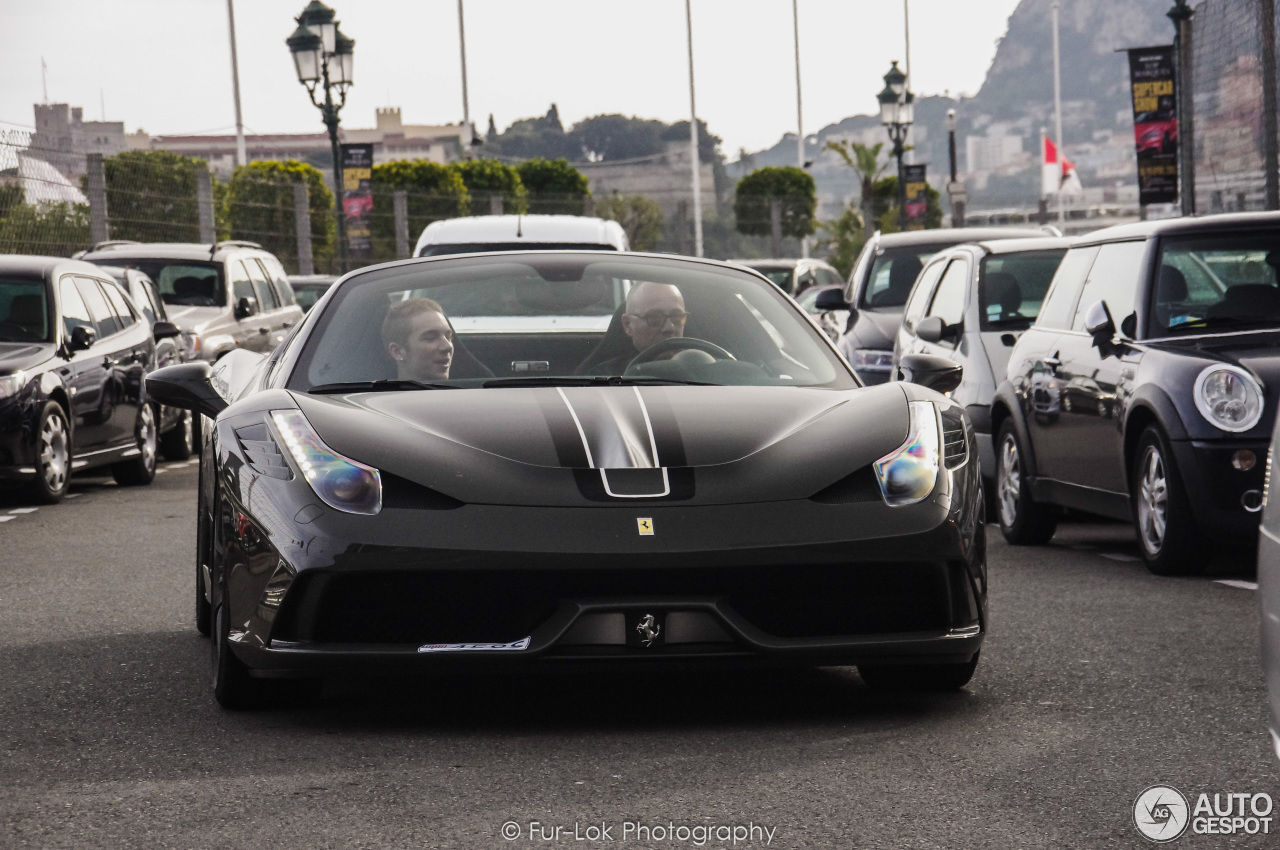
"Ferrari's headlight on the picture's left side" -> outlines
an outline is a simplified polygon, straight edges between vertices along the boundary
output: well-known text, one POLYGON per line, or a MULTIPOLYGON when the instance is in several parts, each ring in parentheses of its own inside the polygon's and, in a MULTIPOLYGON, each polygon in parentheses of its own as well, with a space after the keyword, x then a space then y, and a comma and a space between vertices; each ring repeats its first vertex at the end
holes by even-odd
POLYGON ((383 509, 378 470, 325 445, 300 410, 271 411, 271 421, 302 477, 325 504, 347 513, 374 515, 383 509))

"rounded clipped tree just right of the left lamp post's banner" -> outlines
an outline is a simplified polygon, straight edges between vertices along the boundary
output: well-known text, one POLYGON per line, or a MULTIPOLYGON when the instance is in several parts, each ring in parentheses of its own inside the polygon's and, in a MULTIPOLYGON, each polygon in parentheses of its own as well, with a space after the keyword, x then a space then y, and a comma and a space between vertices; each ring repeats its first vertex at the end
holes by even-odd
POLYGON ((374 165, 372 239, 376 260, 396 259, 396 191, 408 201, 412 243, 431 221, 468 215, 471 195, 457 169, 428 160, 398 160, 374 165))

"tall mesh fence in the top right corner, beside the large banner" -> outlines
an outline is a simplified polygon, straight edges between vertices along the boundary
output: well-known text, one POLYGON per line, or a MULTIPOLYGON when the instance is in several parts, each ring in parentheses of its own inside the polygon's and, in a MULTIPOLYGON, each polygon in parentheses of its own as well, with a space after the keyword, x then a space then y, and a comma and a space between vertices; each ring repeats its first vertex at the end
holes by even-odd
POLYGON ((1196 209, 1275 209, 1277 168, 1274 0, 1204 0, 1192 18, 1196 209), (1270 145, 1270 156, 1268 156, 1270 145), (1270 161, 1268 161, 1270 160, 1270 161))

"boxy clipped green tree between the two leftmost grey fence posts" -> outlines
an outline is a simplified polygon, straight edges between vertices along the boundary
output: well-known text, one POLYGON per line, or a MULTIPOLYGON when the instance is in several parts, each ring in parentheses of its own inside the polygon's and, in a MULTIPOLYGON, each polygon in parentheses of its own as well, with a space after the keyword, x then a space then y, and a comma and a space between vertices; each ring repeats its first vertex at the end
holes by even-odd
POLYGON ((200 241, 196 180, 204 160, 170 151, 124 151, 102 160, 113 239, 200 241))

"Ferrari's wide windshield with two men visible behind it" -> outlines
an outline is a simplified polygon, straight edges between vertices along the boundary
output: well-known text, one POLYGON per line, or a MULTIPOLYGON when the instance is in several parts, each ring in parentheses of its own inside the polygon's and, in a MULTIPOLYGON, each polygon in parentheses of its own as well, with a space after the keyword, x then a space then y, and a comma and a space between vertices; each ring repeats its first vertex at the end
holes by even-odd
POLYGON ((786 296, 754 275, 627 255, 536 253, 348 279, 288 385, 595 380, 858 385, 786 296))

